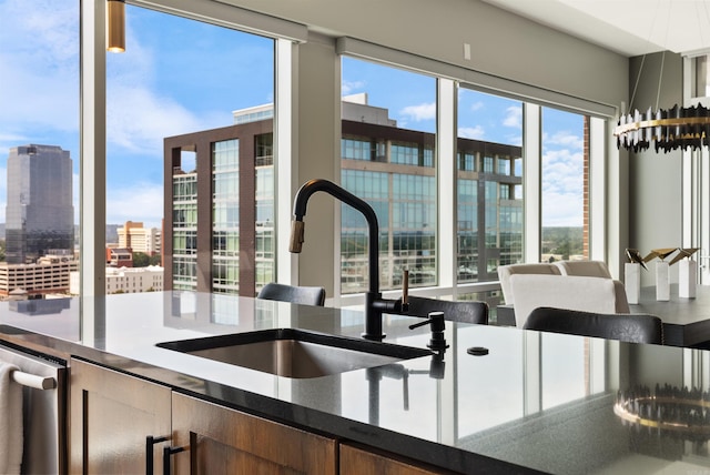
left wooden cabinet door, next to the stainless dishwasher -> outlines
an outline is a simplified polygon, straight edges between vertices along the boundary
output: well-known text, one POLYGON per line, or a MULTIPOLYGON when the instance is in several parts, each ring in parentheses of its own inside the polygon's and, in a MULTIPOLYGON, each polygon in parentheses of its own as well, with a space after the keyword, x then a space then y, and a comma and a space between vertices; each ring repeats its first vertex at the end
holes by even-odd
POLYGON ((154 473, 162 473, 162 444, 149 454, 146 437, 170 437, 170 393, 166 386, 72 358, 70 472, 143 474, 152 455, 154 473))

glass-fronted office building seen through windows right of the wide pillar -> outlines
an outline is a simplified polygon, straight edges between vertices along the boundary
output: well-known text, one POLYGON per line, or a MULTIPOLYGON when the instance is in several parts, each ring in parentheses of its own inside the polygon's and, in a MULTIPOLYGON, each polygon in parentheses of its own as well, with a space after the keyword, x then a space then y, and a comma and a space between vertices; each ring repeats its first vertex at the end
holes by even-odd
MULTIPOLYGON (((363 104, 352 104, 362 109, 363 104)), ((344 117, 351 103, 343 102, 344 117)), ((361 114, 361 118, 375 115, 361 114)), ((382 122, 382 118, 378 119, 382 122)), ((342 183, 367 201, 379 221, 381 289, 434 286, 437 275, 437 192, 433 133, 342 121, 342 183)), ((457 279, 498 279, 498 265, 523 259, 523 149, 480 140, 457 141, 457 279)), ((367 225, 343 205, 341 289, 367 290, 367 225)))

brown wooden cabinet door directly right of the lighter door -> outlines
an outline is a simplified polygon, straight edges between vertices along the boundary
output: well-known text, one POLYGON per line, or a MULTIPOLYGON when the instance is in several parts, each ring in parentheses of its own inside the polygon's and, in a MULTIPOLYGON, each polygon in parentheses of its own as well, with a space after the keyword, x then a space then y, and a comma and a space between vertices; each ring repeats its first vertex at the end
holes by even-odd
POLYGON ((173 393, 175 474, 335 474, 334 439, 173 393))

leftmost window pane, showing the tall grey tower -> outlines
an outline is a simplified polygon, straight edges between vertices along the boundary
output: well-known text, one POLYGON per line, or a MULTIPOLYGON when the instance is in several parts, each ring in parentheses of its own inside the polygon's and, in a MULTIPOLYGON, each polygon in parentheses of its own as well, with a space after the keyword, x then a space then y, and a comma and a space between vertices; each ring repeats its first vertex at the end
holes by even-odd
MULTIPOLYGON (((23 283, 30 297, 69 294, 77 269, 79 8, 78 0, 0 0, 0 266, 39 276, 48 270, 40 257, 71 262, 50 266, 54 279, 23 283)), ((0 299, 18 286, 0 286, 0 299)))

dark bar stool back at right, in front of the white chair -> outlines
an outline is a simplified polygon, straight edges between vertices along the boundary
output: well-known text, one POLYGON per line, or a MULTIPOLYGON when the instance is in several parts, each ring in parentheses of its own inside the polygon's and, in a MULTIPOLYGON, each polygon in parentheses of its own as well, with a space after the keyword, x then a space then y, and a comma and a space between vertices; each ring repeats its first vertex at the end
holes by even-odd
POLYGON ((630 343, 663 343, 663 323, 649 314, 600 314, 542 306, 530 312, 524 329, 630 343))

